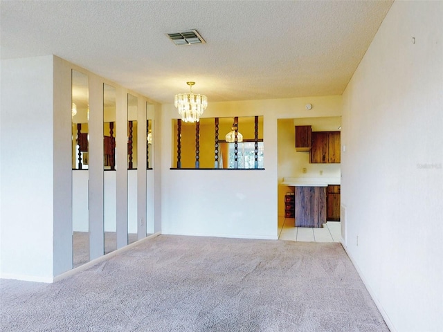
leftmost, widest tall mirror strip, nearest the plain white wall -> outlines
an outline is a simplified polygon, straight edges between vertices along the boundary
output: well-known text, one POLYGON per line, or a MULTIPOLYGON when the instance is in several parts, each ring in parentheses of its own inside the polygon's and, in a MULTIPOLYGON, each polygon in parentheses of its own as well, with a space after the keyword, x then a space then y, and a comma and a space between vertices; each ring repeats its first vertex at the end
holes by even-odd
POLYGON ((89 80, 71 71, 73 267, 89 261, 89 80))

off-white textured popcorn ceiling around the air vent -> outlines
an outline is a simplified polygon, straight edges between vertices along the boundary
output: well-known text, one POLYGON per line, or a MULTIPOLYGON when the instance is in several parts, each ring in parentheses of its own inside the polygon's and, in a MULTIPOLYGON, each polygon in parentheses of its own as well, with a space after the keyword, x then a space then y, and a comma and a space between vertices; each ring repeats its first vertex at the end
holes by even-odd
POLYGON ((392 1, 1 1, 2 59, 54 54, 158 102, 343 93, 392 1), (165 35, 196 29, 206 44, 165 35))

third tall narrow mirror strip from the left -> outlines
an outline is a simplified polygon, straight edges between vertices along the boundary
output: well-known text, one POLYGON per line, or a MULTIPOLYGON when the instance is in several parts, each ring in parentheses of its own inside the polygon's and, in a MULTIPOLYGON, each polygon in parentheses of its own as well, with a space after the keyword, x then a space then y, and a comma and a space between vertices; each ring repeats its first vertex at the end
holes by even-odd
POLYGON ((138 99, 127 95, 127 242, 137 241, 137 111, 138 99))

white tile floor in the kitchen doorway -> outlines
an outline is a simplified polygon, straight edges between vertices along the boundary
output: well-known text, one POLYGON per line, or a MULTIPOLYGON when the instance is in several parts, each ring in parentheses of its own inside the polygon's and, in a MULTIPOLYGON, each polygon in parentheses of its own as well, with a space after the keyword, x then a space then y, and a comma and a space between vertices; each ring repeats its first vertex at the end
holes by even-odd
POLYGON ((278 239, 305 242, 340 242, 340 221, 328 221, 323 228, 295 227, 295 219, 278 217, 278 239))

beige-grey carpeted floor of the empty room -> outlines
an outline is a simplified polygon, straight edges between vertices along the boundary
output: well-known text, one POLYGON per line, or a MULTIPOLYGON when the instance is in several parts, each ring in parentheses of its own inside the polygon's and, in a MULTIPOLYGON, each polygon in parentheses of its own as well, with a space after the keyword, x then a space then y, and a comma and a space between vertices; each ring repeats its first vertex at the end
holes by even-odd
POLYGON ((339 243, 160 235, 0 295, 9 332, 389 331, 339 243))

